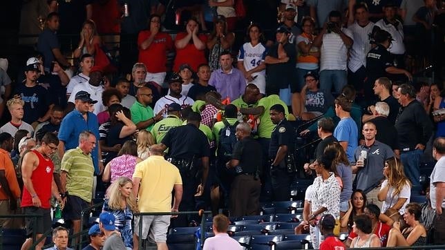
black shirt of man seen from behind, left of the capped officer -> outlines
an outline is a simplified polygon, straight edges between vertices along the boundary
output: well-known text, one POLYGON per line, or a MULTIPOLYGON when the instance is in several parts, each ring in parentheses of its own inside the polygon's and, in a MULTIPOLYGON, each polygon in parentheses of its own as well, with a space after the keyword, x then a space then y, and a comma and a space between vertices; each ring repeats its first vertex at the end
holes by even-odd
POLYGON ((263 149, 261 144, 252 137, 246 137, 236 142, 232 159, 239 160, 243 173, 256 173, 263 164, 263 149))

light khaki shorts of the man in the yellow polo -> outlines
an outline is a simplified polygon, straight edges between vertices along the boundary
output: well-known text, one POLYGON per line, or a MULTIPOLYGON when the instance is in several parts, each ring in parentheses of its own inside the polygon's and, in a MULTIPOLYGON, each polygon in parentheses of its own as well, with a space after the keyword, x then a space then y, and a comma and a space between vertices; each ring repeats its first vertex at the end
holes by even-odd
MULTIPOLYGON (((135 216, 135 235, 139 236, 139 220, 141 216, 135 216)), ((152 242, 162 243, 167 241, 167 230, 170 226, 171 215, 145 215, 142 220, 142 239, 149 238, 152 242)))

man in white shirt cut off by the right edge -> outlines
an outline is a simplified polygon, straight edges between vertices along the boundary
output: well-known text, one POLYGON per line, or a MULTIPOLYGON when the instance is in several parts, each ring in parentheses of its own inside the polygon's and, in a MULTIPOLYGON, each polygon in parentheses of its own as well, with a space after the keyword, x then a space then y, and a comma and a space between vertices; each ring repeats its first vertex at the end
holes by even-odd
POLYGON ((445 199, 444 199, 444 161, 445 161, 445 138, 437 137, 433 142, 433 157, 437 160, 434 166, 433 173, 430 177, 430 199, 431 206, 436 211, 436 217, 433 223, 435 228, 434 233, 434 244, 444 244, 445 240, 442 237, 444 235, 444 209, 445 209, 445 199))

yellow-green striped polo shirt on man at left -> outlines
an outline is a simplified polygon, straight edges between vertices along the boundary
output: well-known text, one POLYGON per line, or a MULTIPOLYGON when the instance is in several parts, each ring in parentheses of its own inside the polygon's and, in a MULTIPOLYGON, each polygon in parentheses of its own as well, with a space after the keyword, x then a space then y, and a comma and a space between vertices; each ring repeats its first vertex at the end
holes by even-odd
POLYGON ((94 174, 91 154, 85 155, 79 147, 66 151, 61 159, 61 171, 68 173, 66 191, 91 202, 94 174))

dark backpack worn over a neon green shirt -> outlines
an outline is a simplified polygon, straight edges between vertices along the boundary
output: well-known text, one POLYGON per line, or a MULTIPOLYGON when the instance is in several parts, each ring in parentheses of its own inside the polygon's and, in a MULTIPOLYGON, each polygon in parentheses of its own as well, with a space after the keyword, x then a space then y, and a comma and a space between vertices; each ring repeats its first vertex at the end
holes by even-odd
POLYGON ((236 125, 239 122, 236 121, 233 125, 230 125, 227 119, 223 119, 223 123, 225 127, 219 133, 218 158, 229 160, 236 144, 236 125))

